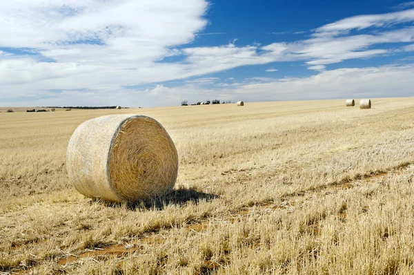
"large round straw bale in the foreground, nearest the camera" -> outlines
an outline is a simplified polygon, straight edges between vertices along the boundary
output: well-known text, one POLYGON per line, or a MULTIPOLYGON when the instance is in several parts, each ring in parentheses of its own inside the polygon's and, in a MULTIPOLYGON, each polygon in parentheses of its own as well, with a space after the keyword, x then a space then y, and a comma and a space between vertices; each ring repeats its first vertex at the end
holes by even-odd
POLYGON ((144 115, 87 120, 72 134, 66 167, 75 189, 114 202, 158 196, 174 187, 175 145, 163 126, 144 115))

